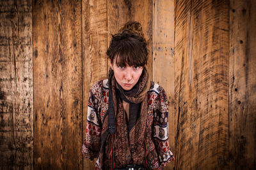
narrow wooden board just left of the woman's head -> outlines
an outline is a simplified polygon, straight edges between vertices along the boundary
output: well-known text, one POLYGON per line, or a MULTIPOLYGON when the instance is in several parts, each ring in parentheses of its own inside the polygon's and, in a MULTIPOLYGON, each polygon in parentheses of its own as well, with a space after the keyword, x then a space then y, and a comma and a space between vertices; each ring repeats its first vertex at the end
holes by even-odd
MULTIPOLYGON (((107 4, 105 0, 82 2, 83 29, 83 139, 86 134, 90 87, 107 78, 107 4)), ((95 161, 83 159, 83 169, 95 169, 95 161)))

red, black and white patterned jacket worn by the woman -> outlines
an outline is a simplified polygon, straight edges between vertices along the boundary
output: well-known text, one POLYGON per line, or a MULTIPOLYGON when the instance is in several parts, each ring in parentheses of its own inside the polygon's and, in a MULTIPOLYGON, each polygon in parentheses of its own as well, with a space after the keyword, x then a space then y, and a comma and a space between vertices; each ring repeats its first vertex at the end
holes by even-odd
MULTIPOLYGON (((108 96, 108 79, 98 81, 90 89, 86 138, 82 153, 91 160, 99 156, 102 122, 108 110, 108 96)), ((147 140, 148 166, 151 169, 162 169, 173 159, 168 142, 168 99, 164 89, 153 81, 150 82, 148 90, 147 127, 150 129, 147 131, 150 138, 147 140)), ((96 162, 96 169, 98 164, 99 162, 96 162)))

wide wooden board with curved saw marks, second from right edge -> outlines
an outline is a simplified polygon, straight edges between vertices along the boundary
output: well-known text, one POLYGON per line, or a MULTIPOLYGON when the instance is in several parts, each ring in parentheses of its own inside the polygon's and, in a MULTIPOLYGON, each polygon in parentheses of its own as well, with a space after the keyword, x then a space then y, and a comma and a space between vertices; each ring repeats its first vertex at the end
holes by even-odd
POLYGON ((175 2, 175 169, 225 169, 228 1, 175 2))

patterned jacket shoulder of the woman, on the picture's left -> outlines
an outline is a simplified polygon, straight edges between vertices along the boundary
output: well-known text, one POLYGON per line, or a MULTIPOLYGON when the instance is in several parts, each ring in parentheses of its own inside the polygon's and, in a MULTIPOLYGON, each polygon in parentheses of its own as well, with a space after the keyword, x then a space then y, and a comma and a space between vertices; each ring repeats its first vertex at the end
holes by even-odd
POLYGON ((108 92, 108 79, 97 81, 90 87, 90 91, 98 99, 102 98, 108 92))

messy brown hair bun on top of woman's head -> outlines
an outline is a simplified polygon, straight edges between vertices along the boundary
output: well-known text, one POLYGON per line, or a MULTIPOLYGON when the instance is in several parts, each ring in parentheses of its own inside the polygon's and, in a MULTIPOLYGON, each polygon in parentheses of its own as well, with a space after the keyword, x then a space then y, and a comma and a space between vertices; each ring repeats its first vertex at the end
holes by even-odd
POLYGON ((136 36, 140 36, 141 38, 144 39, 144 34, 142 31, 142 26, 140 24, 140 22, 136 22, 136 21, 128 21, 126 22, 121 29, 119 30, 119 33, 122 33, 124 31, 129 30, 130 32, 132 32, 132 34, 136 35, 136 36))

